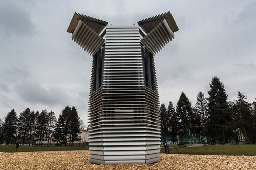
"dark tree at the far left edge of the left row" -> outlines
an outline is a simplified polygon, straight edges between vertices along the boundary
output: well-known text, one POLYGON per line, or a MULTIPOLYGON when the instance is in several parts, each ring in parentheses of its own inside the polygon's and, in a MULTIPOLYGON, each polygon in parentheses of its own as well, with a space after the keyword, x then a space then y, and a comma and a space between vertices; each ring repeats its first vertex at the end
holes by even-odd
POLYGON ((15 144, 17 137, 17 114, 14 109, 12 109, 1 125, 0 143, 3 141, 5 144, 15 144))

